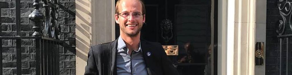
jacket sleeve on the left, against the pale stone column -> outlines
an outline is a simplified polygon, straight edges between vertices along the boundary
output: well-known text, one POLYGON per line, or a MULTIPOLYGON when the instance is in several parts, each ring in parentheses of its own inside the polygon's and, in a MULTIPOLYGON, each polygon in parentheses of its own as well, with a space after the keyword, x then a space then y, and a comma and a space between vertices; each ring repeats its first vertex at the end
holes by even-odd
POLYGON ((96 66, 92 47, 90 47, 89 52, 88 52, 88 60, 87 60, 87 65, 85 67, 84 75, 98 75, 98 69, 96 66))

